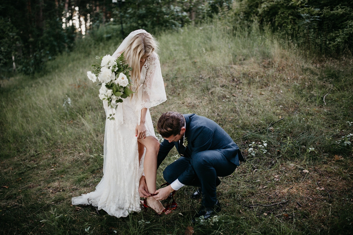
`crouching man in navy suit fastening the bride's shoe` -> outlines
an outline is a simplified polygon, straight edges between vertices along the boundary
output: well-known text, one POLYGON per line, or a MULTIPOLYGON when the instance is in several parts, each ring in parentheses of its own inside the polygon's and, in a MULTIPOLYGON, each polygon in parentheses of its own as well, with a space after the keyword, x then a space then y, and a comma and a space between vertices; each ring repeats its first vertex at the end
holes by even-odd
MULTIPOLYGON (((239 147, 217 123, 196 114, 163 113, 157 130, 164 138, 157 166, 174 146, 181 157, 164 169, 163 177, 170 185, 157 190, 154 198, 164 200, 184 185, 197 186, 192 198, 197 199, 202 194, 202 207, 193 221, 202 215, 205 219, 212 217, 221 210, 216 197, 216 186, 220 184, 218 177, 232 174, 239 166, 239 160, 245 161, 239 147)), ((142 197, 150 196, 144 176, 140 179, 139 193, 142 197)))

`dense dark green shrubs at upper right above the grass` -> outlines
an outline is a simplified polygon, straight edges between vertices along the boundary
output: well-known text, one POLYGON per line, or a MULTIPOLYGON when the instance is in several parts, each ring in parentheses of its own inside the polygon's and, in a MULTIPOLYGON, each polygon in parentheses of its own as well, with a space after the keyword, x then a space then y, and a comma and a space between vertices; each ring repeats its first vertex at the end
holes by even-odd
POLYGON ((350 1, 244 0, 236 23, 264 27, 315 54, 351 54, 353 9, 350 1))

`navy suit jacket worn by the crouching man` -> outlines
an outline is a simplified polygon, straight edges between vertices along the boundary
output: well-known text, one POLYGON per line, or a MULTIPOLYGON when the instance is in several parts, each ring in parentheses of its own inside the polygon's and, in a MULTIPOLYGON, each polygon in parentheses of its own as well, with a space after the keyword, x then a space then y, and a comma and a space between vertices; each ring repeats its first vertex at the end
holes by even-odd
POLYGON ((194 154, 205 150, 216 150, 223 154, 229 161, 239 166, 240 161, 246 161, 241 154, 239 147, 234 143, 232 138, 217 123, 206 117, 196 114, 184 114, 186 122, 185 138, 187 147, 179 144, 179 142, 170 142, 164 140, 158 152, 157 166, 166 158, 169 151, 175 146, 180 152, 184 153, 184 157, 192 157, 194 154))

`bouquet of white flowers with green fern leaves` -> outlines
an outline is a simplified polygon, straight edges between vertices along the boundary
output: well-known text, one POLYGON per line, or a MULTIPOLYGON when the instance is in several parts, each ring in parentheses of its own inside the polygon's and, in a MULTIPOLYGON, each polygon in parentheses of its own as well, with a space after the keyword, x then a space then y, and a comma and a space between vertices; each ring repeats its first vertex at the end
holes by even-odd
MULTIPOLYGON (((108 107, 115 110, 118 103, 123 101, 122 99, 133 93, 129 88, 129 86, 132 86, 129 74, 132 68, 128 67, 124 52, 116 59, 110 55, 98 58, 101 64, 93 64, 94 70, 92 72, 88 71, 87 76, 92 82, 96 82, 98 76, 100 83, 97 86, 102 85, 99 90, 99 98, 107 100, 108 107)), ((114 114, 110 114, 108 118, 114 120, 114 114)))

